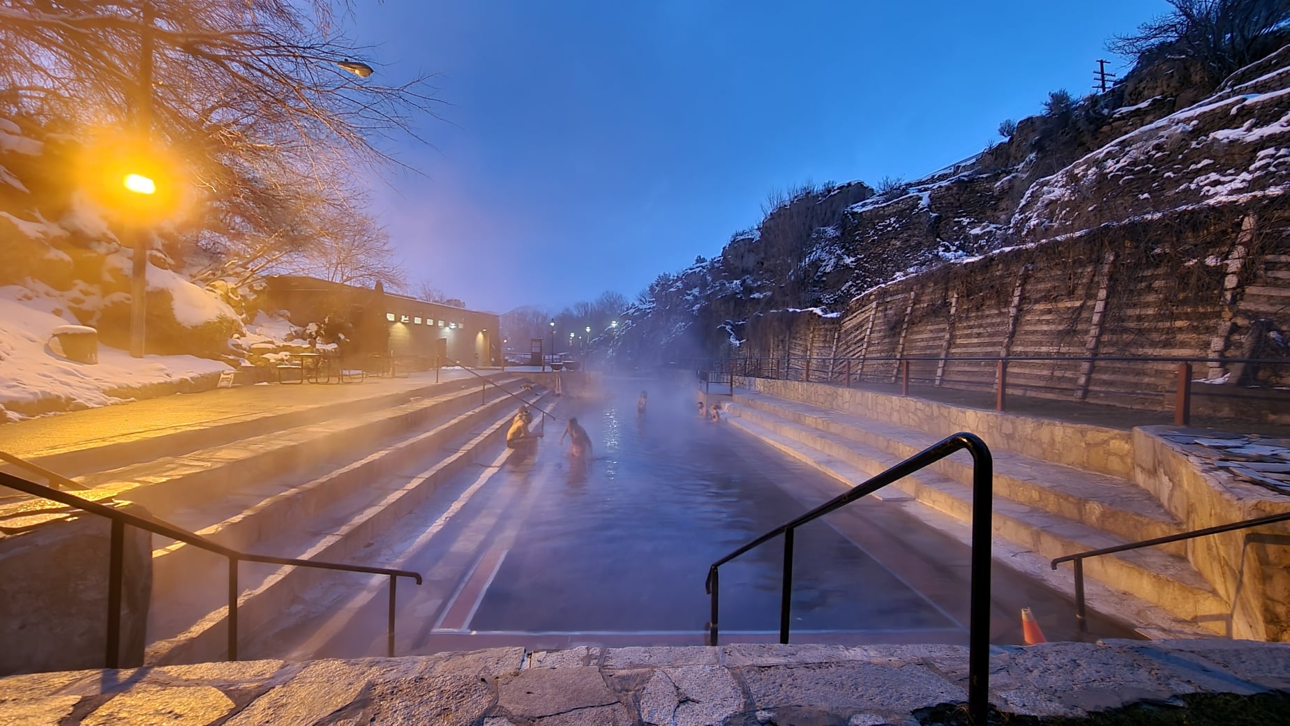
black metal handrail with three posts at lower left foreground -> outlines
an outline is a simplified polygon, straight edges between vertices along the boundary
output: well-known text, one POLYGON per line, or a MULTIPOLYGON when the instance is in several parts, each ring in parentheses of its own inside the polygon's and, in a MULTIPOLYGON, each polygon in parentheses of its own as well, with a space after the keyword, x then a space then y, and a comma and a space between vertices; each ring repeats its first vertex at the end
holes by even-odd
MULTIPOLYGON (((43 475, 52 475, 52 478, 61 481, 71 481, 67 477, 49 472, 48 469, 41 469, 36 464, 23 462, 17 456, 5 458, 9 463, 19 467, 26 467, 31 471, 40 471, 43 475)), ((75 484, 75 482, 72 482, 75 484)), ((59 491, 57 489, 44 486, 32 481, 27 481, 22 477, 0 472, 0 486, 8 486, 9 489, 17 489, 32 496, 39 496, 41 499, 49 499, 52 502, 58 502, 59 504, 66 504, 67 507, 75 507, 90 515, 97 515, 99 517, 107 517, 112 521, 111 531, 111 548, 108 552, 108 579, 107 579, 107 645, 104 655, 104 667, 117 668, 120 665, 120 643, 121 643, 121 579, 124 576, 123 570, 123 557, 125 549, 125 526, 138 527, 152 534, 159 534, 161 536, 183 542, 205 549, 206 552, 214 552, 228 558, 228 660, 237 660, 237 564, 239 562, 263 562, 267 565, 290 565, 295 567, 313 567, 319 570, 341 570, 347 573, 370 573, 374 575, 390 575, 390 620, 388 629, 386 632, 386 652, 392 658, 395 654, 395 592, 399 578, 410 578, 421 584, 421 573, 414 573, 412 570, 393 570, 390 567, 369 567, 366 565, 347 565, 343 562, 322 562, 319 560, 297 560, 293 557, 270 557, 266 554, 252 554, 248 552, 239 552, 236 549, 217 544, 199 534, 191 533, 188 530, 177 527, 172 524, 141 517, 138 515, 132 515, 129 512, 121 512, 114 509, 112 507, 106 507, 97 502, 90 502, 89 499, 83 499, 75 494, 68 494, 66 491, 59 491)))

